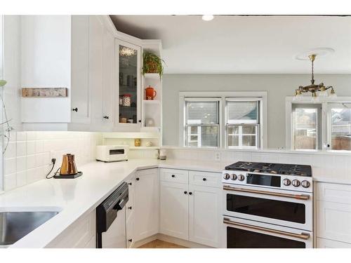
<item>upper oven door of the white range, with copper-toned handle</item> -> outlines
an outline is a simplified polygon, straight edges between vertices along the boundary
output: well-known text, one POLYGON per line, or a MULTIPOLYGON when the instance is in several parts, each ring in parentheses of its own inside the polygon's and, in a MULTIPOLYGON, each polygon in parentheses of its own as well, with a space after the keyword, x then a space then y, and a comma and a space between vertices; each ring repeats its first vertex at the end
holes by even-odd
POLYGON ((312 231, 312 194, 225 185, 223 215, 312 231))

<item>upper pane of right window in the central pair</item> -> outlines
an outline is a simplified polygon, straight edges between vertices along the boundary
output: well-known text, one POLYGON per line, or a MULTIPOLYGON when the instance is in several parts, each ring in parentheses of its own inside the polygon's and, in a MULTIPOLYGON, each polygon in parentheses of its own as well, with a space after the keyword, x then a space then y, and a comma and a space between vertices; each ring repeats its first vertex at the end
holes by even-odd
POLYGON ((258 102, 227 102, 227 123, 259 123, 258 102))

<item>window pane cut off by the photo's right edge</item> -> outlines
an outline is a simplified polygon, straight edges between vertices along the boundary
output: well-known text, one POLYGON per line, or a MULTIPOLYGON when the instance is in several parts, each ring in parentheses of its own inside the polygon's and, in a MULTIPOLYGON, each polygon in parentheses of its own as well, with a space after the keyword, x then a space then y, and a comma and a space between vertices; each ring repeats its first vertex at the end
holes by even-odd
POLYGON ((331 109, 331 149, 351 150, 351 109, 347 104, 331 109))

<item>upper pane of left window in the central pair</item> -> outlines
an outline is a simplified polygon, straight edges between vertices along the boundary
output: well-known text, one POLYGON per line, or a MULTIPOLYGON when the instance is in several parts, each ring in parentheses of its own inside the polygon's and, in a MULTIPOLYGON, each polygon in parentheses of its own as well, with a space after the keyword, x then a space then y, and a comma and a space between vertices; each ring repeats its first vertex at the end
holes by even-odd
POLYGON ((219 102, 185 102, 187 124, 218 124, 219 102))

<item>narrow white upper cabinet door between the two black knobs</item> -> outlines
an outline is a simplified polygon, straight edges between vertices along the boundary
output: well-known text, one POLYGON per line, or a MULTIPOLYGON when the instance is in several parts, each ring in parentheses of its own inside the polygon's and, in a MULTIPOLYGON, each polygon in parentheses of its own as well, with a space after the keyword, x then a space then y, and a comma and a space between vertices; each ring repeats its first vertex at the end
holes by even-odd
POLYGON ((102 125, 102 49, 104 26, 98 15, 89 15, 89 88, 93 130, 102 125))

